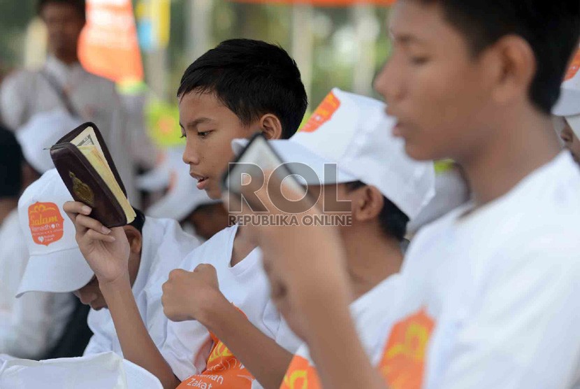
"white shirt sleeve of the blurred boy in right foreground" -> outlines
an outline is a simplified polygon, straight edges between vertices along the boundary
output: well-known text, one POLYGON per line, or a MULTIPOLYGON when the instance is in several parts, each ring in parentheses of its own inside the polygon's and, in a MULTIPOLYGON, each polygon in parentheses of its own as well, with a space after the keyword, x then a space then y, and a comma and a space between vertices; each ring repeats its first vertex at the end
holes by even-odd
POLYGON ((580 356, 578 243, 555 234, 532 235, 542 238, 512 245, 499 258, 449 358, 430 355, 442 378, 427 388, 572 386, 580 356))

